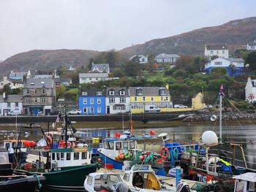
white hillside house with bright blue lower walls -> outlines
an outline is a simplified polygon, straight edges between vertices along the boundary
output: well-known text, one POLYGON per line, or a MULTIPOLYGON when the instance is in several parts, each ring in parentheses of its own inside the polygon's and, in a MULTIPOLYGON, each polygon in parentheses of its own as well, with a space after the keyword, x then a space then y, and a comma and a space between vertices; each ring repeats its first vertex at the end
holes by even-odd
POLYGON ((216 67, 224 67, 227 69, 227 74, 230 76, 244 73, 243 58, 215 58, 208 61, 205 65, 205 71, 211 73, 211 69, 216 67))

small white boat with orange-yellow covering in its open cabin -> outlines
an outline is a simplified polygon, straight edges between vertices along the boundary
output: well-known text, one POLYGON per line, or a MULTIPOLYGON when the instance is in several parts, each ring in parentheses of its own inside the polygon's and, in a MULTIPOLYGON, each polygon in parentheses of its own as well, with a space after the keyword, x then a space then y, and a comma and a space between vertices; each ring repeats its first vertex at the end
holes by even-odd
POLYGON ((151 165, 132 166, 130 170, 124 172, 122 179, 129 186, 130 191, 190 191, 189 185, 182 181, 176 187, 160 182, 151 165))

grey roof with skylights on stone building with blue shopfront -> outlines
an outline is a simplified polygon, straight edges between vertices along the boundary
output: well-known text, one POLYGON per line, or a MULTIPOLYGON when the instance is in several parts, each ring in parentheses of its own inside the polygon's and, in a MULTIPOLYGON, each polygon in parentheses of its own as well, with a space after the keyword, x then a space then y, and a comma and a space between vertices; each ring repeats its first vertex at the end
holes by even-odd
POLYGON ((31 78, 24 82, 23 88, 53 88, 54 81, 51 78, 31 78))

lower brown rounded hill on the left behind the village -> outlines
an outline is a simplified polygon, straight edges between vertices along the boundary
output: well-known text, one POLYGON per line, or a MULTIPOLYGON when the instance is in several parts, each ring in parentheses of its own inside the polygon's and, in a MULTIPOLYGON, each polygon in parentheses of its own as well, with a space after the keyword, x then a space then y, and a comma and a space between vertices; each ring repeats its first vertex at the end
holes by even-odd
MULTIPOLYGON (((59 66, 82 66, 89 64, 99 52, 93 50, 31 50, 13 55, 0 63, 0 75, 35 70, 53 70, 59 66)), ((0 77, 1 77, 0 76, 0 77)))

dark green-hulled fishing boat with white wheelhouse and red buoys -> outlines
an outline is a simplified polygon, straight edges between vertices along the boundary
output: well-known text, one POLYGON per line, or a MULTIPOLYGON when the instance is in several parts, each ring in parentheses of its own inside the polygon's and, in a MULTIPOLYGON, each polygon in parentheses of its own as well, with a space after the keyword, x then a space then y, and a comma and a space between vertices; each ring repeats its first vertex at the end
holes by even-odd
MULTIPOLYGON (((68 122, 66 115, 65 133, 70 126, 68 122)), ((98 164, 91 164, 91 149, 76 143, 74 137, 67 139, 67 134, 65 140, 57 144, 49 143, 45 135, 43 138, 47 145, 41 151, 48 154, 48 163, 38 162, 39 167, 29 169, 29 173, 42 174, 45 177, 46 191, 84 191, 86 175, 96 172, 99 167, 98 164)), ((40 143, 42 146, 42 141, 40 143)))

